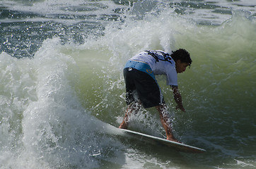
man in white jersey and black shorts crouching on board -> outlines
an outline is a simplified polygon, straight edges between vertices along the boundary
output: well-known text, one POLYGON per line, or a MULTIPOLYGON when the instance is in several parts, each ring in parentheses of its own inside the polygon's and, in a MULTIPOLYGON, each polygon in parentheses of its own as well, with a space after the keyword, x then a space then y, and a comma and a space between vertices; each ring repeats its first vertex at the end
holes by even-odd
POLYGON ((173 89, 173 96, 177 103, 176 109, 185 112, 178 89, 177 75, 185 72, 191 63, 190 54, 185 49, 172 51, 171 54, 164 51, 142 51, 130 58, 124 66, 127 92, 125 101, 128 108, 120 128, 127 129, 129 115, 132 112, 137 113, 141 104, 144 108, 156 107, 167 139, 178 142, 173 136, 170 115, 155 75, 166 75, 166 83, 173 89))

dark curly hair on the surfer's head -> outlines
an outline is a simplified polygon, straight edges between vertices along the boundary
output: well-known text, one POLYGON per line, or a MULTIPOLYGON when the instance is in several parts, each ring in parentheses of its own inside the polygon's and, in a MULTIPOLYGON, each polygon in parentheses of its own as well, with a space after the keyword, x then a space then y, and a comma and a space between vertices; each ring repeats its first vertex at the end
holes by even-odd
POLYGON ((186 51, 185 49, 178 49, 177 51, 172 51, 173 54, 170 56, 173 58, 174 61, 180 60, 182 63, 189 63, 190 66, 192 63, 192 60, 190 58, 190 53, 186 51))

